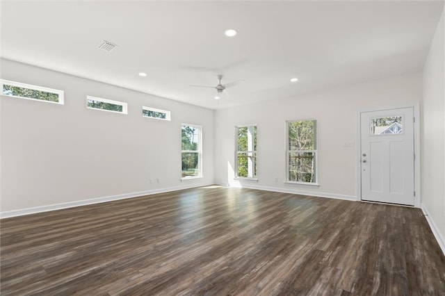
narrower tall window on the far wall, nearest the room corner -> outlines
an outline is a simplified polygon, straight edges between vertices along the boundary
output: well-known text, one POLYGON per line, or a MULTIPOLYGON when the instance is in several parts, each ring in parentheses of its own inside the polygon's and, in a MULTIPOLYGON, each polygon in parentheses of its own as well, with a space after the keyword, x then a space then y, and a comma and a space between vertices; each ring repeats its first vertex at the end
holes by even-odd
POLYGON ((257 126, 236 126, 236 176, 257 178, 257 126))

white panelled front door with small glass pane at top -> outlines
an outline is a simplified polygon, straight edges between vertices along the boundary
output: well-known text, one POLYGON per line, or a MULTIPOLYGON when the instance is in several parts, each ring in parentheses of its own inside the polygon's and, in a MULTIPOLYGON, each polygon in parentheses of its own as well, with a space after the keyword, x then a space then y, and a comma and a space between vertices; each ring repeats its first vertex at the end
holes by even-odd
POLYGON ((414 206, 414 110, 360 113, 362 200, 414 206))

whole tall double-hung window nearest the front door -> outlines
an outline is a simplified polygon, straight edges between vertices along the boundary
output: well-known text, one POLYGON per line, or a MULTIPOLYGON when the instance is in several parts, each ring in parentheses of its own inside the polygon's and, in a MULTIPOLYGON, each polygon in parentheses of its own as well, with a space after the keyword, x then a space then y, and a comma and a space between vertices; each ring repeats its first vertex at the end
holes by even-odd
POLYGON ((316 120, 286 122, 287 181, 316 183, 316 120))

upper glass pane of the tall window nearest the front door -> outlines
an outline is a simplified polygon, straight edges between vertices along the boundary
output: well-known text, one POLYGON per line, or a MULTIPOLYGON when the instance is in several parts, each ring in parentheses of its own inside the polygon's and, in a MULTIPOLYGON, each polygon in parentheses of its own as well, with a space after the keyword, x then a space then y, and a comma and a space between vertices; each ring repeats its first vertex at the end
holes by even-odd
POLYGON ((289 150, 316 149, 316 120, 288 122, 289 150))

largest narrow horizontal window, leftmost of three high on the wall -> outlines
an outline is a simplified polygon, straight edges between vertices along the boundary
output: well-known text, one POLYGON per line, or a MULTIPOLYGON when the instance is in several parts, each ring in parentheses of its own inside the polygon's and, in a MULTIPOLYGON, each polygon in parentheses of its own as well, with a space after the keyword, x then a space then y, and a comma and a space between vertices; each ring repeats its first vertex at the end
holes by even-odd
POLYGON ((20 99, 32 99, 35 101, 47 101, 63 105, 63 90, 44 88, 38 85, 1 80, 1 94, 20 99))

